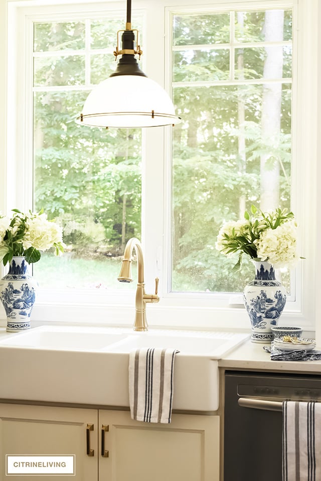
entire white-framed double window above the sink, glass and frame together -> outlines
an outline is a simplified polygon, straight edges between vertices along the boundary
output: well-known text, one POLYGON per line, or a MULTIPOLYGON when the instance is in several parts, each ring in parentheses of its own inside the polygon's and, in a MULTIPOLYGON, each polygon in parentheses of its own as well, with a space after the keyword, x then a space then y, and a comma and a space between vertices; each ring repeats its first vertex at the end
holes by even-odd
POLYGON ((135 282, 129 288, 116 278, 124 244, 136 236, 146 290, 161 279, 149 324, 196 327, 197 318, 200 327, 248 327, 244 310, 230 302, 253 277, 252 266, 235 276, 215 241, 224 220, 254 203, 291 207, 302 226, 307 259, 291 276, 280 273, 289 292, 282 315, 311 326, 302 298, 303 281, 313 275, 307 232, 314 227, 301 199, 313 202, 315 194, 316 48, 313 35, 303 35, 314 31, 313 8, 306 0, 172 4, 137 0, 132 24, 142 35, 142 69, 172 90, 182 124, 105 132, 74 119, 92 86, 113 69, 124 23, 119 5, 9 0, 16 28, 9 36, 15 62, 8 158, 17 165, 8 169, 19 189, 9 192, 7 205, 43 207, 63 223, 68 246, 62 258, 46 254, 34 266, 42 285, 34 318, 130 323, 135 282), (302 152, 311 159, 304 166, 302 152))

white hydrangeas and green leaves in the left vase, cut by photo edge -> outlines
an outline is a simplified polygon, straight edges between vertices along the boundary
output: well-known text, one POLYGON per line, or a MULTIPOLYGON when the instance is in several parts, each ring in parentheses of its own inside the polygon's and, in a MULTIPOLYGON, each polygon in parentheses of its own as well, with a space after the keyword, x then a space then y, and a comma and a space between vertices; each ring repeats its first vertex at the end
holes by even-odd
POLYGON ((0 214, 0 262, 4 265, 14 256, 24 256, 31 264, 41 258, 40 251, 55 247, 55 254, 64 252, 62 228, 47 219, 41 210, 38 214, 23 214, 13 209, 13 217, 0 214))

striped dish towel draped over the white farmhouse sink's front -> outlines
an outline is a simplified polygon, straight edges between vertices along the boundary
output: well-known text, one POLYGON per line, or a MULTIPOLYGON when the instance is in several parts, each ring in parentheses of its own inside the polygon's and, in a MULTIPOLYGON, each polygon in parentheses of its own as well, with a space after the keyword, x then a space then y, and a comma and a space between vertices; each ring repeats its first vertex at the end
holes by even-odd
POLYGON ((170 423, 176 349, 141 348, 129 354, 129 406, 137 421, 170 423))

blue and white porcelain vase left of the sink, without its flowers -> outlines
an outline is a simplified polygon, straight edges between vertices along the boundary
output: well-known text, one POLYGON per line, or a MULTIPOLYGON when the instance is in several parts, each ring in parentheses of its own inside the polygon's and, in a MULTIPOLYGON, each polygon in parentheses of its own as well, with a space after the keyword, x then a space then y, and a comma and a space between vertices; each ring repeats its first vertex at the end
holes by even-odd
POLYGON ((8 274, 0 280, 0 299, 6 310, 8 332, 30 329, 37 286, 26 259, 13 257, 8 274))

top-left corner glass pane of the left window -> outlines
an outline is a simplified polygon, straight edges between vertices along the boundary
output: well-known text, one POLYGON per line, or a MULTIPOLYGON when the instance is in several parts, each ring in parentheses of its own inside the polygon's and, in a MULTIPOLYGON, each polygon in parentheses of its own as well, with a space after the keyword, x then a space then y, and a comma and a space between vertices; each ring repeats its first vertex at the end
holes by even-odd
POLYGON ((34 52, 85 48, 84 22, 34 24, 34 52))

